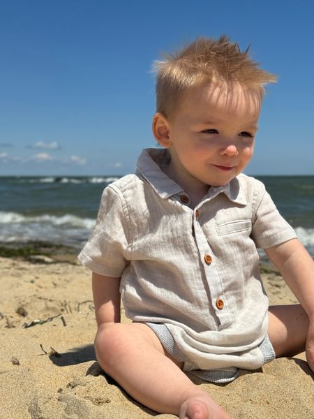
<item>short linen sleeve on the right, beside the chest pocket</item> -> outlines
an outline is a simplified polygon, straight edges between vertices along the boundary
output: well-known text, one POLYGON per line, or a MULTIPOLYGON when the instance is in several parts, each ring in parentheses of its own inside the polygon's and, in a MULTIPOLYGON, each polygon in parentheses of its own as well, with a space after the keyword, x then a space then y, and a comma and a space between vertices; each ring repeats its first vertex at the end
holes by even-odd
POLYGON ((265 191, 264 185, 261 185, 256 202, 257 209, 253 215, 251 237, 257 248, 267 249, 294 239, 297 235, 290 224, 279 214, 269 193, 265 191))

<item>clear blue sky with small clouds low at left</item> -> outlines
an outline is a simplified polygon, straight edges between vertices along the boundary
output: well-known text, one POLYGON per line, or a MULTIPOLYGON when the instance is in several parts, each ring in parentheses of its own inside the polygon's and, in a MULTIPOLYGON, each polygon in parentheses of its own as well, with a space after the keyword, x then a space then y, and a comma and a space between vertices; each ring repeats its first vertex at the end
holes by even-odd
POLYGON ((278 75, 252 175, 314 174, 314 2, 1 0, 0 175, 133 172, 155 146, 151 64, 227 34, 278 75))

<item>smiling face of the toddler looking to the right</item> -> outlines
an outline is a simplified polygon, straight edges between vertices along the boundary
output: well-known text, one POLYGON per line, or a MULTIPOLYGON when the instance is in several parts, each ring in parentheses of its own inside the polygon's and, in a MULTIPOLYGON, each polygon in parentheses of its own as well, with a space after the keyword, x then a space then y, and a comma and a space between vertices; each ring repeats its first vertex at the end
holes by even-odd
POLYGON ((227 184, 253 156, 259 115, 259 96, 239 84, 190 89, 167 120, 167 172, 186 191, 227 184))

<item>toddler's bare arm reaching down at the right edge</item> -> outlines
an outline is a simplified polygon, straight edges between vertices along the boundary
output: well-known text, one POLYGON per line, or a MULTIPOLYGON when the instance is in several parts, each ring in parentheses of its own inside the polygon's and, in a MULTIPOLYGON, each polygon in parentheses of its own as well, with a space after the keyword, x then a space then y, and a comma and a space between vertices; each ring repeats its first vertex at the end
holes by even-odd
POLYGON ((308 314, 306 358, 314 371, 314 262, 297 239, 265 249, 308 314))

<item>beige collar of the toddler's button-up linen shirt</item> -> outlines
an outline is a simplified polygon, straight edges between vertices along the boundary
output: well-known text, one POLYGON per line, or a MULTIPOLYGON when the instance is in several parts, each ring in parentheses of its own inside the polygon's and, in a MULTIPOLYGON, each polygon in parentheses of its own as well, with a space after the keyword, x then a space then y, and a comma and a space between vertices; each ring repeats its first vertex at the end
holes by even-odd
MULTIPOLYGON (((170 154, 168 150, 159 148, 143 149, 137 160, 137 175, 147 180, 156 193, 163 199, 184 192, 181 186, 170 179, 170 177, 167 177, 163 170, 161 170, 169 161, 170 154)), ((219 193, 225 193, 225 196, 233 203, 246 205, 246 196, 237 177, 224 186, 211 186, 204 200, 213 199, 219 193)))

